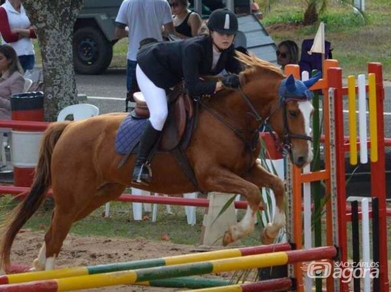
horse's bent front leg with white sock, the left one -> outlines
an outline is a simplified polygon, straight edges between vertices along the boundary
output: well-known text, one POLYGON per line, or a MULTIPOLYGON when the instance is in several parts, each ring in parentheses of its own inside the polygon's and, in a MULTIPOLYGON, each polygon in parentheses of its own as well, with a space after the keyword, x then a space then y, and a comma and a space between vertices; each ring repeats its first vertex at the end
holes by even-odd
POLYGON ((242 194, 249 204, 243 219, 239 223, 228 227, 223 238, 224 245, 254 231, 257 210, 261 201, 259 188, 255 184, 227 169, 219 168, 208 171, 206 181, 202 187, 217 192, 242 194))

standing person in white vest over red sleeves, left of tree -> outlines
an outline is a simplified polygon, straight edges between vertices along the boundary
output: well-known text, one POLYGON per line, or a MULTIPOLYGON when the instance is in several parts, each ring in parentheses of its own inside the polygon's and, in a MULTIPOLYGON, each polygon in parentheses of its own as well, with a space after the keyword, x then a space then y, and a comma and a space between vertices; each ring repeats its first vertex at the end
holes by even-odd
POLYGON ((23 70, 34 69, 35 53, 31 39, 37 36, 21 0, 6 0, 0 7, 0 33, 4 43, 16 51, 23 70))

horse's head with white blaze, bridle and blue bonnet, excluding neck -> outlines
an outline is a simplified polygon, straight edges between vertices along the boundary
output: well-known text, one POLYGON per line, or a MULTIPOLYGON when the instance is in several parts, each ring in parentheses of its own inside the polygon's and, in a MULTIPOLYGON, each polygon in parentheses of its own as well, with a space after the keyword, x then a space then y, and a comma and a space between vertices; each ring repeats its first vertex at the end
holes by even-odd
POLYGON ((308 81, 295 80, 292 75, 283 79, 279 86, 279 104, 270 114, 270 124, 290 154, 292 162, 303 167, 312 161, 312 135, 310 119, 313 112, 309 88, 320 74, 308 81))

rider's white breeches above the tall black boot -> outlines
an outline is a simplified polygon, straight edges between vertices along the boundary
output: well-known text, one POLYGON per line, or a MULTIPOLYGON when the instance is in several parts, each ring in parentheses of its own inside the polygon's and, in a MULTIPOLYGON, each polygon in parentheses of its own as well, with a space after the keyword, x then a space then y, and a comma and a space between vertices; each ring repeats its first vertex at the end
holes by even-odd
POLYGON ((165 90, 157 87, 150 81, 138 65, 136 67, 136 77, 138 87, 140 88, 149 109, 149 121, 155 130, 161 131, 168 115, 165 90))

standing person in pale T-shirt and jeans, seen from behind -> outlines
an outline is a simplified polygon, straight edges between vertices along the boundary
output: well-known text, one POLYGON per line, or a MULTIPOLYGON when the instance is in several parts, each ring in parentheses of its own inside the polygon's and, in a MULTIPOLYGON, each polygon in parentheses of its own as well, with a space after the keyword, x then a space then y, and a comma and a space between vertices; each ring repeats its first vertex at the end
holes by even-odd
POLYGON ((129 42, 126 70, 127 111, 127 102, 132 100, 133 93, 138 91, 136 57, 139 43, 146 38, 162 41, 162 26, 166 33, 174 34, 171 9, 167 0, 124 0, 119 8, 115 26, 115 36, 128 37, 129 42), (126 27, 128 30, 125 30, 126 27))

